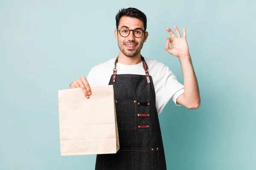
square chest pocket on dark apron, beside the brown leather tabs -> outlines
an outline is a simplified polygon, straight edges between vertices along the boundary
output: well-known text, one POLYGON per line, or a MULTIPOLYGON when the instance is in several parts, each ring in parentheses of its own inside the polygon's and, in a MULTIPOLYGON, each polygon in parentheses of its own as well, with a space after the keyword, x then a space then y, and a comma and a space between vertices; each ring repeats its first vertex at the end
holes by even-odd
POLYGON ((136 129, 137 101, 115 100, 118 129, 136 129))

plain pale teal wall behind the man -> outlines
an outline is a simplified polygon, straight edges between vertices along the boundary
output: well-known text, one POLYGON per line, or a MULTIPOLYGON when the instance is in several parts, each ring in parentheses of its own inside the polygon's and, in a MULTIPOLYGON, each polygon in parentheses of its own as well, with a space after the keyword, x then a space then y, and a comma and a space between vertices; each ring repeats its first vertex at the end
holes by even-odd
POLYGON ((201 106, 160 114, 168 170, 256 169, 255 1, 0 0, 0 170, 94 169, 95 155, 60 156, 58 90, 117 56, 130 6, 148 18, 143 56, 181 83, 166 27, 187 30, 201 106))

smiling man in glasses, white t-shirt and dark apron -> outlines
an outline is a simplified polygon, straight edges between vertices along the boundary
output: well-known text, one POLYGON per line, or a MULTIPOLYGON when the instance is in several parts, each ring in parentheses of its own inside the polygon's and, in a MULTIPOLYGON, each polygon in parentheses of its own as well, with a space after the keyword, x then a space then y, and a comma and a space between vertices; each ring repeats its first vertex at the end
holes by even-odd
POLYGON ((87 99, 90 86, 113 85, 120 149, 116 154, 97 155, 96 170, 166 170, 158 114, 172 99, 176 105, 195 109, 200 105, 198 83, 186 42, 175 26, 170 28, 165 49, 180 59, 184 85, 163 63, 144 58, 140 51, 147 40, 146 16, 136 8, 116 14, 116 58, 96 65, 87 78, 76 79, 70 88, 82 88, 87 99), (172 48, 169 48, 169 43, 172 48))

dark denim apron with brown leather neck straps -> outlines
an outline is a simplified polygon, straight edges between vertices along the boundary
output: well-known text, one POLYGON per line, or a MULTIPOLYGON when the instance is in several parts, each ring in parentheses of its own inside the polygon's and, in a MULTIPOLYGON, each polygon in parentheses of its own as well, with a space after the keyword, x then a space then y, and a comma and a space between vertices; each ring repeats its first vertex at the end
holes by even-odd
POLYGON ((114 88, 120 149, 97 155, 95 170, 166 170, 154 85, 145 59, 145 75, 116 75, 117 59, 109 85, 114 88))

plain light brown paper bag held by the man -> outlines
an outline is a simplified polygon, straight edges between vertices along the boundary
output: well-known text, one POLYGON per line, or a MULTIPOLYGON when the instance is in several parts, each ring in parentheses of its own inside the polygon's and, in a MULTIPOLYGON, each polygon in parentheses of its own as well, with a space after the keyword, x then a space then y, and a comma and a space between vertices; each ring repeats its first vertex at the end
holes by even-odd
POLYGON ((116 153, 119 137, 113 85, 58 91, 61 156, 116 153))

